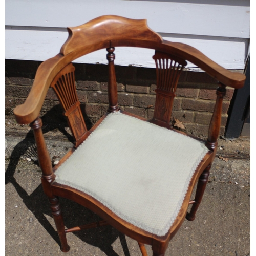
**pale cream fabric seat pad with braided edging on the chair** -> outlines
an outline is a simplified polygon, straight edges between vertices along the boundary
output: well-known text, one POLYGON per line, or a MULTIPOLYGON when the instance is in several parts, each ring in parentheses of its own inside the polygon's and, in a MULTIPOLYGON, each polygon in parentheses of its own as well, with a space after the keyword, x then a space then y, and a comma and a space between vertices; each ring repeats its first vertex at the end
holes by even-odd
POLYGON ((109 114, 55 172, 117 216, 163 236, 176 219, 207 147, 120 112, 109 114))

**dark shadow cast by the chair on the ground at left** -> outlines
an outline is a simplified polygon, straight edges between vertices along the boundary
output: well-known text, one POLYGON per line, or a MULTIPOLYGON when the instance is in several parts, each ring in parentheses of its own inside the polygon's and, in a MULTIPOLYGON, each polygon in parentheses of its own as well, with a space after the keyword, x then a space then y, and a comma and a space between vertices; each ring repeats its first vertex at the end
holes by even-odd
MULTIPOLYGON (((63 117, 60 117, 60 119, 56 119, 56 113, 61 113, 59 105, 54 106, 50 111, 48 111, 44 116, 41 117, 43 123, 48 123, 49 120, 54 120, 54 122, 50 121, 50 125, 44 125, 42 127, 42 132, 47 133, 51 130, 58 129, 63 135, 67 136, 69 141, 73 142, 73 137, 65 130, 65 125, 67 127, 67 122, 63 122, 63 117), (61 125, 59 125, 60 123, 61 125)), ((61 114, 58 116, 61 116, 61 114)), ((88 129, 90 129, 92 123, 90 123, 90 120, 85 114, 84 117, 86 120, 86 124, 88 125, 88 129)), ((66 120, 64 119, 64 121, 66 120)), ((20 157, 24 156, 29 148, 33 146, 35 147, 35 141, 33 139, 33 131, 30 130, 26 135, 25 139, 19 142, 14 147, 11 153, 10 162, 6 170, 5 182, 6 184, 11 183, 14 186, 19 197, 25 203, 26 207, 31 212, 33 212, 35 218, 60 246, 60 240, 57 231, 55 231, 55 228, 50 224, 50 222, 44 215, 46 214, 52 216, 50 204, 42 190, 42 186, 39 185, 33 191, 33 193, 29 195, 27 191, 20 184, 18 184, 16 179, 14 178, 15 170, 20 157)), ((34 164, 38 165, 38 161, 35 160, 34 164)), ((101 220, 100 217, 94 214, 94 212, 92 212, 91 210, 68 199, 60 198, 60 205, 67 228, 101 220)), ((85 243, 98 247, 108 256, 118 256, 118 254, 113 250, 112 244, 114 243, 114 241, 117 240, 117 238, 119 238, 124 255, 130 256, 124 234, 120 233, 118 230, 111 226, 103 226, 82 230, 74 232, 74 234, 85 243)))

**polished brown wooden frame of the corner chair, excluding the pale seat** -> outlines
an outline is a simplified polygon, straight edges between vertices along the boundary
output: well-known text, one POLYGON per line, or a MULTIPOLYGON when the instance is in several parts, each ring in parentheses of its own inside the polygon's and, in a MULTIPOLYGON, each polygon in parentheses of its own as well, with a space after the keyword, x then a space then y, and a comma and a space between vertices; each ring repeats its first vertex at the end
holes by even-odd
MULTIPOLYGON (((60 53, 41 63, 36 72, 28 98, 24 104, 17 106, 14 110, 17 122, 20 124, 30 123, 34 131, 39 165, 42 170, 42 187, 49 198, 52 215, 61 241, 61 250, 67 252, 70 249, 66 239, 67 232, 110 224, 127 236, 137 240, 142 255, 146 255, 144 244, 150 244, 152 245, 153 255, 162 256, 170 239, 175 235, 184 219, 195 219, 196 211, 207 184, 211 163, 216 154, 221 123, 222 101, 226 92, 225 87, 242 88, 245 76, 241 73, 232 73, 222 68, 191 46, 163 40, 159 34, 147 27, 145 19, 134 20, 120 16, 106 15, 95 18, 81 26, 68 28, 68 32, 69 37, 61 47, 60 53), (220 84, 217 89, 216 105, 209 126, 208 139, 205 141, 205 145, 209 148, 209 151, 197 167, 190 181, 178 217, 165 236, 161 237, 127 223, 91 196, 54 181, 55 170, 76 150, 76 147, 92 133, 106 115, 119 111, 114 67, 114 50, 115 47, 119 46, 142 47, 156 50, 153 58, 157 63, 157 96, 154 117, 150 122, 159 126, 172 129, 169 122, 173 100, 180 71, 186 65, 186 61, 193 62, 210 76, 216 78, 220 84), (74 67, 71 62, 85 54, 103 48, 106 48, 108 51, 107 59, 109 61, 109 109, 92 129, 88 131, 82 118, 80 103, 75 92, 74 67), (42 135, 42 122, 39 118, 40 110, 49 87, 53 88, 59 98, 75 139, 74 147, 54 168, 52 168, 51 159, 47 151, 44 136, 42 135), (191 193, 197 181, 195 200, 190 200, 191 193), (58 201, 59 196, 71 199, 91 209, 102 217, 104 221, 65 230, 58 201), (190 212, 187 213, 189 204, 193 204, 193 206, 190 212)), ((125 111, 122 112, 126 115, 135 116, 125 111)), ((142 117, 137 118, 148 121, 142 117)), ((177 132, 182 133, 180 131, 177 132)))

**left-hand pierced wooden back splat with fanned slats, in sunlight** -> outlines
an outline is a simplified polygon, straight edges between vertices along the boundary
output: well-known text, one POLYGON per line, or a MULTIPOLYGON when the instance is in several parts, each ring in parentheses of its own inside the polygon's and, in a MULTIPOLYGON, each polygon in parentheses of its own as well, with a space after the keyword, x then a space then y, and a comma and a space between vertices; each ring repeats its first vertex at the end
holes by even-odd
POLYGON ((67 116, 68 123, 75 138, 75 146, 79 146, 86 136, 87 128, 84 123, 77 98, 75 87, 75 67, 70 63, 63 68, 51 83, 51 88, 56 93, 60 104, 67 116))

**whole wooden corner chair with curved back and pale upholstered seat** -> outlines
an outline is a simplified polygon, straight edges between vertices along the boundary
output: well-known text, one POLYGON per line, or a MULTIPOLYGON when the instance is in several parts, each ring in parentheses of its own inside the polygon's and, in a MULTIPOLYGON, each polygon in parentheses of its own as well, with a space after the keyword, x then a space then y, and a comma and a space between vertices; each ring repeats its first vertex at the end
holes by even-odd
POLYGON ((144 19, 101 16, 68 28, 68 32, 60 53, 41 63, 26 102, 14 111, 17 122, 30 123, 34 131, 42 187, 50 201, 61 250, 70 249, 67 232, 110 224, 137 240, 142 255, 146 255, 144 244, 152 245, 153 255, 164 255, 184 219, 195 219, 216 154, 225 87, 243 87, 245 76, 220 67, 193 47, 163 40, 144 19), (157 89, 150 121, 118 106, 114 50, 119 46, 155 50, 157 89), (108 51, 109 109, 87 130, 71 62, 102 48, 108 51), (173 130, 170 125, 186 60, 219 81, 206 141, 173 130), (74 147, 54 168, 38 118, 49 87, 56 93, 75 139, 74 147), (190 200, 196 183, 195 200, 190 200), (65 229, 58 197, 91 209, 104 221, 65 229), (189 204, 193 206, 188 213, 189 204))

